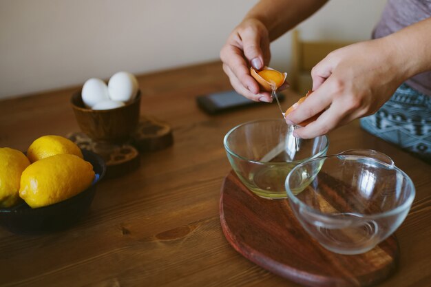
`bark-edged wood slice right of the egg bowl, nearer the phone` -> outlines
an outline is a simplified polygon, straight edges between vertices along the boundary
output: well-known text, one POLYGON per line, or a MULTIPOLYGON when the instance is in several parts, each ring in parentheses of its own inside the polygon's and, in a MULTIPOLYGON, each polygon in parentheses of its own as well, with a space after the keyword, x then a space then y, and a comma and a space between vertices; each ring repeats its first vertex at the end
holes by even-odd
POLYGON ((132 134, 133 145, 140 151, 158 151, 174 143, 171 127, 151 116, 141 116, 132 134))

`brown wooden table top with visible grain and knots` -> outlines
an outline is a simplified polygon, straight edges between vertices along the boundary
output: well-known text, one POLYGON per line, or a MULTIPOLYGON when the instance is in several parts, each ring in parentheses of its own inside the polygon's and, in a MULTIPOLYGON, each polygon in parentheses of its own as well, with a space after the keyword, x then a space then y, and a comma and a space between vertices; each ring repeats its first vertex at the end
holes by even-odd
MULTIPOLYGON (((195 97, 231 89, 219 62, 138 77, 141 114, 165 120, 174 145, 144 153, 137 171, 98 185, 90 214, 49 235, 0 227, 0 286, 298 286, 249 262, 224 238, 220 187, 231 167, 223 137, 235 125, 275 118, 275 105, 218 116, 195 97)), ((70 97, 79 87, 0 101, 0 147, 26 150, 46 134, 79 131, 70 97)), ((299 96, 286 92, 284 107, 299 96)), ((431 166, 361 130, 328 134, 328 153, 382 151, 412 178, 417 195, 397 230, 399 270, 379 286, 431 286, 431 166)))

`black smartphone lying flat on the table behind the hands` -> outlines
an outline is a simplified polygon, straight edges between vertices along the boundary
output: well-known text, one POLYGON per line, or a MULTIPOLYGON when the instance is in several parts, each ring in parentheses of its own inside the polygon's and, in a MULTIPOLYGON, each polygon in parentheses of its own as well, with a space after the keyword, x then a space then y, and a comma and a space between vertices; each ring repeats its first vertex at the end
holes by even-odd
MULTIPOLYGON (((277 94, 279 100, 283 100, 283 94, 277 94)), ((264 105, 265 103, 255 102, 238 94, 235 91, 217 92, 204 96, 197 96, 198 106, 207 114, 219 114, 224 111, 231 111, 242 107, 251 107, 253 105, 264 105)))

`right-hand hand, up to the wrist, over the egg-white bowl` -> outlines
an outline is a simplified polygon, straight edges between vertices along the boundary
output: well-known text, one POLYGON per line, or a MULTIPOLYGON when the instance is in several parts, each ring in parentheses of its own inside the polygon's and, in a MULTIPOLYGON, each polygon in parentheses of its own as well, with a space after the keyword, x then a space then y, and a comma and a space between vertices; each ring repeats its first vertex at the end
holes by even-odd
POLYGON ((320 111, 314 122, 295 129, 299 138, 315 138, 374 114, 406 80, 403 59, 388 39, 355 43, 335 50, 313 70, 313 94, 286 115, 286 123, 301 123, 320 111), (326 110, 325 110, 326 109, 326 110))

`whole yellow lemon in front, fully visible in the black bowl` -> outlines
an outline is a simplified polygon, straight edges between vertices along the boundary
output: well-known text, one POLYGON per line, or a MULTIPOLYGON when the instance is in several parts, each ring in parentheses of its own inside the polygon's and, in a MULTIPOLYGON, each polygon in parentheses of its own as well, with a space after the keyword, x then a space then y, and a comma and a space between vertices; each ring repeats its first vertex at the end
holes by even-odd
POLYGON ((47 206, 81 193, 93 180, 90 162, 73 154, 57 154, 23 171, 19 196, 32 208, 47 206))

